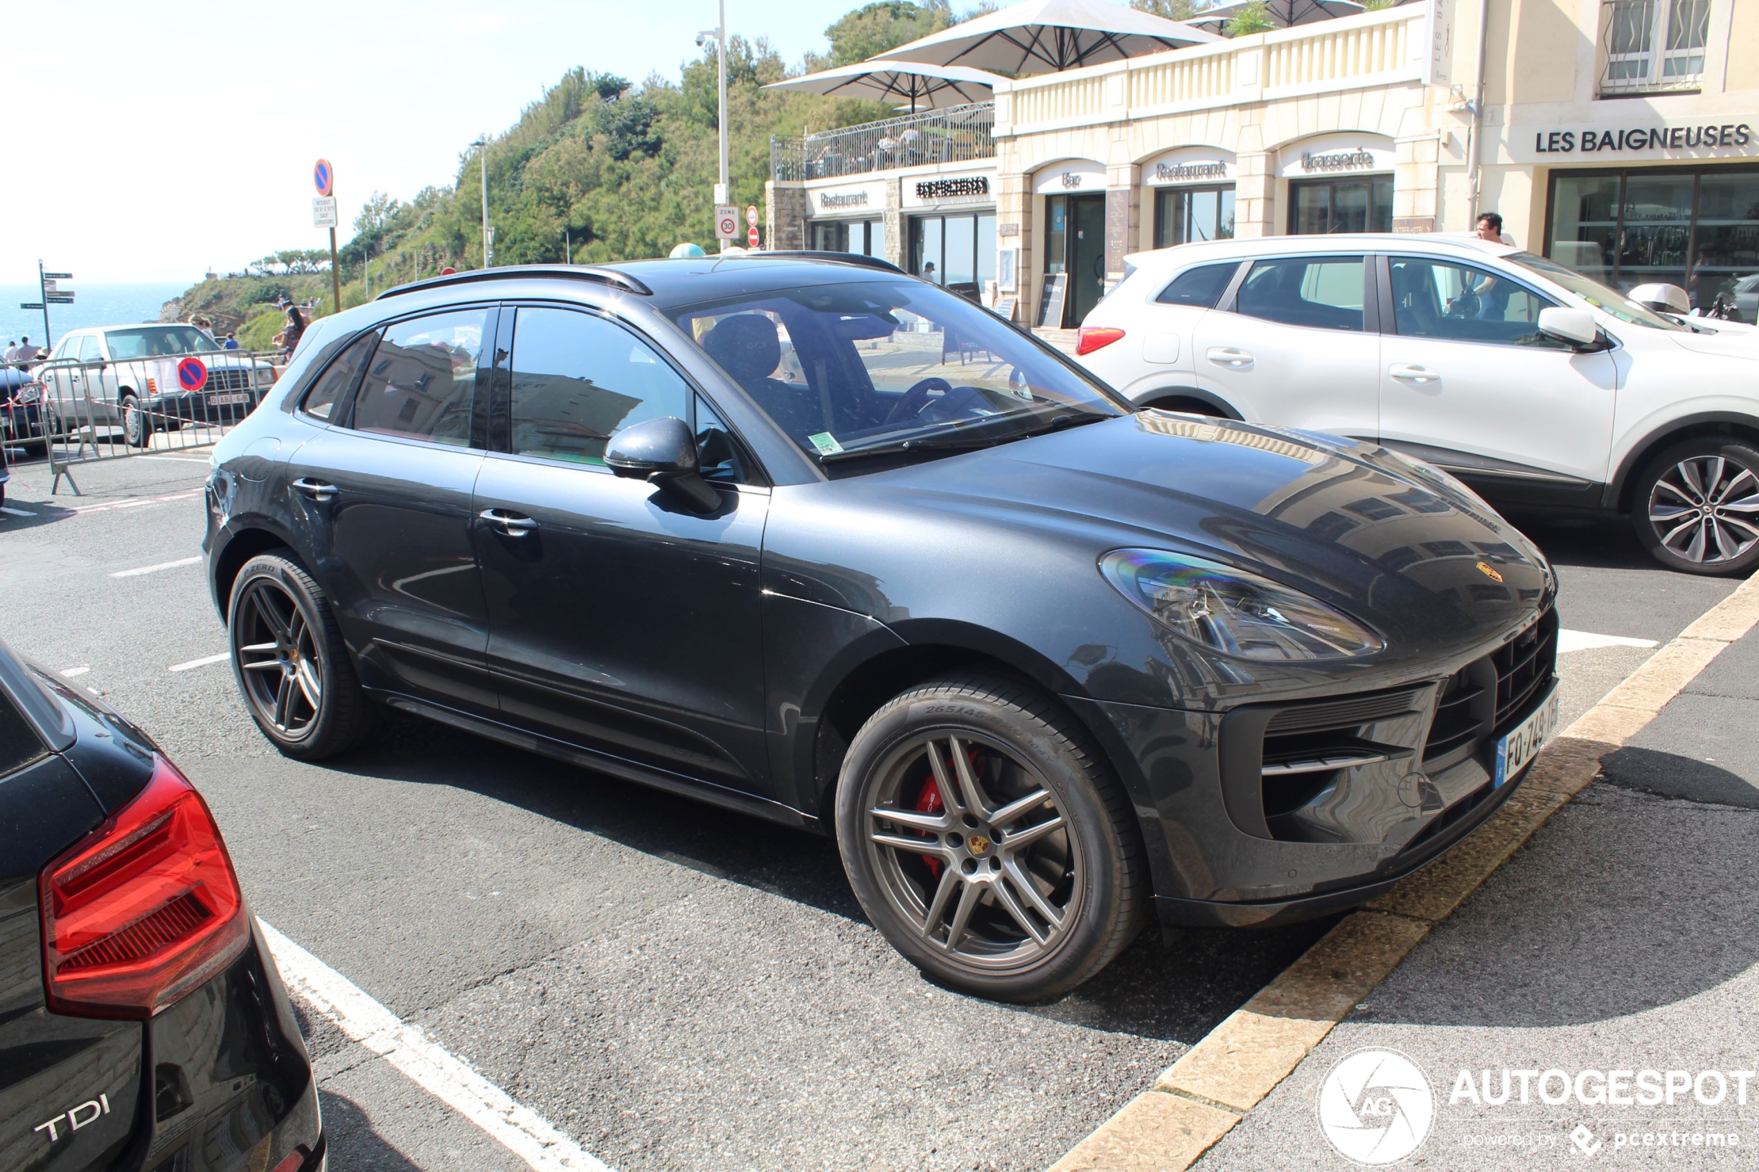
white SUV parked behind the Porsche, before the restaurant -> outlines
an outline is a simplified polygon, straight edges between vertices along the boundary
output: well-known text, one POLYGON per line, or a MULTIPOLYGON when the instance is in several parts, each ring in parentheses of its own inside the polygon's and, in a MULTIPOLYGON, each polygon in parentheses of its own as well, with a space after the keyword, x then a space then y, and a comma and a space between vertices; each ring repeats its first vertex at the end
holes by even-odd
POLYGON ((1492 501, 1631 513, 1694 573, 1759 564, 1759 332, 1660 316, 1446 235, 1129 257, 1077 351, 1143 406, 1386 445, 1492 501))

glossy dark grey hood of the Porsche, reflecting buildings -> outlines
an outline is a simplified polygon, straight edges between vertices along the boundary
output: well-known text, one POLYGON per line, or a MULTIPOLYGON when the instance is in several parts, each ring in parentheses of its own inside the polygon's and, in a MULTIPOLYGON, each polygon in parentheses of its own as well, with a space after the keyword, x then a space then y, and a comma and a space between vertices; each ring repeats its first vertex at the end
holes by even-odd
POLYGON ((1150 546, 1249 569, 1412 652, 1514 629, 1555 590, 1544 557, 1463 485, 1335 436, 1140 411, 880 476, 943 510, 1075 532, 1094 555, 1150 546))

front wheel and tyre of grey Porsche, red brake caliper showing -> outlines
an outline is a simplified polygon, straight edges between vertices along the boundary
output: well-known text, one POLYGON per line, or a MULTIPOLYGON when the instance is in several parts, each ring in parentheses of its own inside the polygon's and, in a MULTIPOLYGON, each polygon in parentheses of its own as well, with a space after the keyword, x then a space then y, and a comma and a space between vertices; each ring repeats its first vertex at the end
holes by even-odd
POLYGON ((887 940, 978 996, 1055 998, 1145 914, 1122 785, 1069 715, 994 676, 913 687, 862 726, 837 780, 837 845, 887 940))

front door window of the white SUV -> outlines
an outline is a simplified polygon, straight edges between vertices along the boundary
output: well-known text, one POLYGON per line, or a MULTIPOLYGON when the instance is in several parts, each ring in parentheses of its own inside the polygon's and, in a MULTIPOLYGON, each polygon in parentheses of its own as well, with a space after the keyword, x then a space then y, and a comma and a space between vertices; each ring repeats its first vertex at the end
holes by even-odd
POLYGON ((1557 302, 1506 276, 1451 260, 1393 257, 1393 327, 1407 337, 1567 348, 1539 332, 1557 302))

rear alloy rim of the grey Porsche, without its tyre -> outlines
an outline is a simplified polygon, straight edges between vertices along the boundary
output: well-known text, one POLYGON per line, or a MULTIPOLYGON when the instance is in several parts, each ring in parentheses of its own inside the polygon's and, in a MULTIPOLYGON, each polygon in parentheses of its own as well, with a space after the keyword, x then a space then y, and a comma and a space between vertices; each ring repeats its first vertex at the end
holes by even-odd
POLYGON ((260 578, 245 587, 232 624, 232 654, 245 696, 287 740, 308 734, 322 713, 324 655, 317 636, 278 582, 260 578))

